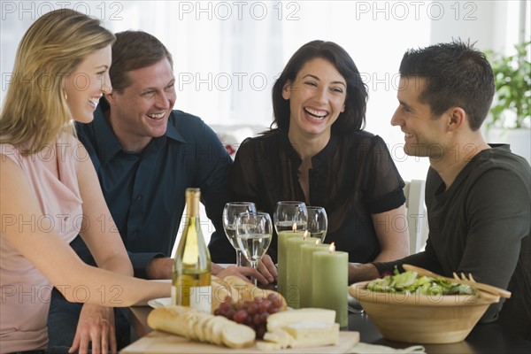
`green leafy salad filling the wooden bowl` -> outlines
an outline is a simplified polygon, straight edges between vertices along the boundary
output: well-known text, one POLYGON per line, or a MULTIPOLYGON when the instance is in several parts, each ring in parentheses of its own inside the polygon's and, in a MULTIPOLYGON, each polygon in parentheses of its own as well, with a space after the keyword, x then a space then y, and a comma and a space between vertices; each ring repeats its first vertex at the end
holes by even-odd
POLYGON ((465 284, 456 284, 444 278, 419 276, 417 272, 399 273, 395 268, 394 275, 386 275, 367 284, 372 291, 401 294, 421 295, 475 295, 476 289, 465 284))

